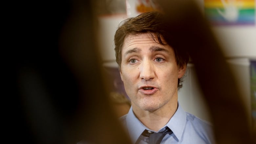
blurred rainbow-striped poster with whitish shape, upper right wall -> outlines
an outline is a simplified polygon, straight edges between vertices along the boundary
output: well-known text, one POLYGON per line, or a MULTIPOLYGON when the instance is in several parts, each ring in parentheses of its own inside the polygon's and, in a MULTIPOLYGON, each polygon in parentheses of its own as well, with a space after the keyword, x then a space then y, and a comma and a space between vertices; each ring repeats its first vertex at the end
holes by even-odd
POLYGON ((255 25, 255 0, 204 0, 204 11, 213 26, 255 25))

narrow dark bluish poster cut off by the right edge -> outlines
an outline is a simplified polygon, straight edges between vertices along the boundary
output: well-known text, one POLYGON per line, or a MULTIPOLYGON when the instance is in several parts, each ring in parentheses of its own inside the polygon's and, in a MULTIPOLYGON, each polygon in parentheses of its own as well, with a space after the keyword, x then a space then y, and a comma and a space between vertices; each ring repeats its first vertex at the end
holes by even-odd
POLYGON ((250 64, 252 125, 256 131, 256 60, 250 64))

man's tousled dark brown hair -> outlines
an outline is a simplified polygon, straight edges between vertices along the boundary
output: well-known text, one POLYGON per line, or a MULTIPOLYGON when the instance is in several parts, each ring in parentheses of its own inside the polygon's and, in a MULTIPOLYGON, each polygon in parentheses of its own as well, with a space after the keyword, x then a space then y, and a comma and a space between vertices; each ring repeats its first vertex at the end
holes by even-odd
MULTIPOLYGON (((130 34, 150 33, 153 40, 161 45, 170 45, 173 35, 168 31, 168 26, 163 22, 163 14, 158 11, 141 13, 136 17, 123 20, 115 34, 115 51, 118 68, 121 71, 121 51, 124 38, 130 34), (156 37, 155 37, 156 35, 156 37), (166 42, 166 43, 165 43, 166 42)), ((172 47, 175 53, 176 63, 179 68, 188 63, 189 56, 183 49, 172 47)), ((178 79, 178 88, 182 87, 182 78, 178 79)))

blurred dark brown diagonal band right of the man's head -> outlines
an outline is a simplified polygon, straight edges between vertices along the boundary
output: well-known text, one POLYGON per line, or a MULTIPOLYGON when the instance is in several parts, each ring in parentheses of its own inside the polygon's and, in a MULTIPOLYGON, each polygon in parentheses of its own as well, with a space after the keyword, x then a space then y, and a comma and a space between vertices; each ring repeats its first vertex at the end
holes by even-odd
POLYGON ((171 46, 188 51, 209 106, 218 144, 252 144, 255 132, 249 123, 235 77, 222 48, 198 5, 191 0, 160 0, 173 34, 171 46))

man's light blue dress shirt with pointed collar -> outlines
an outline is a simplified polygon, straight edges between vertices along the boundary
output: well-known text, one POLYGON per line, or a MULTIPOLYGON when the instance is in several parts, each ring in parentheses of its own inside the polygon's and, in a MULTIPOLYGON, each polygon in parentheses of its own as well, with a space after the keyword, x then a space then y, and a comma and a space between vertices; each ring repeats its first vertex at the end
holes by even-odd
MULTIPOLYGON (((120 117, 127 133, 130 135, 133 144, 148 144, 149 138, 142 132, 148 129, 133 113, 132 107, 129 112, 120 117)), ((178 104, 178 109, 169 122, 158 132, 169 127, 173 133, 166 134, 161 144, 214 144, 212 125, 190 113, 184 112, 178 104)), ((152 131, 152 130, 150 130, 152 131)), ((155 131, 154 131, 155 132, 155 131)))

